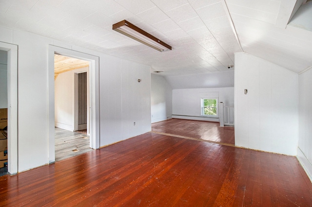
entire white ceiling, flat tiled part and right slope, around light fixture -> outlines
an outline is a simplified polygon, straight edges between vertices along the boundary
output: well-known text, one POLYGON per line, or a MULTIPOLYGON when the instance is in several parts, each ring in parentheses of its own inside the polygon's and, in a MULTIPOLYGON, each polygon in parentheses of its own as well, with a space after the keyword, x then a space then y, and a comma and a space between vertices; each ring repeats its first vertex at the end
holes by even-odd
POLYGON ((163 76, 233 70, 234 52, 300 72, 312 66, 312 32, 288 25, 297 7, 296 0, 1 0, 0 24, 149 65, 163 76), (172 51, 113 31, 123 19, 172 51))

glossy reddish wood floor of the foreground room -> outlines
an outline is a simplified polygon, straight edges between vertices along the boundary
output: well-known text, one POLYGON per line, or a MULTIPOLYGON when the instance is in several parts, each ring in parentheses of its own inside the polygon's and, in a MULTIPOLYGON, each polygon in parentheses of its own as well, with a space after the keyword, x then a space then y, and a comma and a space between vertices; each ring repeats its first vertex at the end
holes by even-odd
POLYGON ((312 206, 292 156, 146 133, 0 177, 0 206, 312 206))

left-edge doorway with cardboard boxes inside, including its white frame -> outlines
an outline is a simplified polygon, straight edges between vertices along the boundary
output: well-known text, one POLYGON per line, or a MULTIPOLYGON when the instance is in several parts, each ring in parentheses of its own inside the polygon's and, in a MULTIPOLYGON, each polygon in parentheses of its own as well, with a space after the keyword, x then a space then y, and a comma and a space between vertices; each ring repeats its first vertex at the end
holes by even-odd
POLYGON ((4 173, 13 175, 18 173, 18 46, 0 42, 0 51, 0 102, 1 108, 7 109, 0 126, 6 129, 1 133, 6 140, 1 138, 0 166, 7 165, 4 173))

